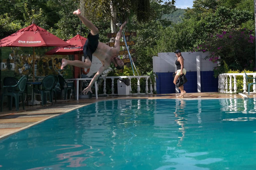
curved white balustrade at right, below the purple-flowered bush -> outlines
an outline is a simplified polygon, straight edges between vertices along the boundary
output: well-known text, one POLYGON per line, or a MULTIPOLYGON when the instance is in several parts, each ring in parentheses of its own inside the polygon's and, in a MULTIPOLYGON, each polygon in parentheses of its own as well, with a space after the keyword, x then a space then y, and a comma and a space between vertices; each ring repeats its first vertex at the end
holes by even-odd
MULTIPOLYGON (((256 73, 246 73, 247 76, 252 75, 256 78, 256 73)), ((247 82, 244 73, 223 73, 219 74, 219 92, 221 93, 236 93, 237 92, 237 76, 243 76, 243 93, 247 93, 247 82), (229 81, 228 81, 229 79, 229 81), (233 81, 232 81, 233 80, 233 81), (234 85, 233 85, 234 84, 234 85)), ((255 79, 253 79, 255 82, 255 79)), ((253 92, 256 93, 256 86, 253 84, 253 92)))

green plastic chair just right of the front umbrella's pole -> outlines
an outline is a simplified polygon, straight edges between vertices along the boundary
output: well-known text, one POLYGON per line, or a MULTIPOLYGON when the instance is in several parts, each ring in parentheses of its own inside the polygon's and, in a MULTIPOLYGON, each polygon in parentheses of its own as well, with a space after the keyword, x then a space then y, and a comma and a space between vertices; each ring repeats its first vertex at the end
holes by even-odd
MULTIPOLYGON (((52 100, 52 87, 55 83, 54 75, 46 76, 38 86, 41 86, 41 89, 35 90, 33 93, 41 94, 41 105, 45 105, 47 103, 47 94, 49 94, 49 101, 53 104, 52 100)), ((32 94, 34 95, 34 94, 32 94)), ((34 100, 32 101, 32 105, 34 105, 34 100)))

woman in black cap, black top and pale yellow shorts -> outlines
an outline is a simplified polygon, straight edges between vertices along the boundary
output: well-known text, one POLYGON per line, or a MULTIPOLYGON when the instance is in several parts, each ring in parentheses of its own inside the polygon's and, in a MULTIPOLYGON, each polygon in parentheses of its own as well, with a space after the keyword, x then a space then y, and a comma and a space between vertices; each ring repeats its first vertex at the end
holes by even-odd
MULTIPOLYGON (((186 70, 184 68, 184 58, 181 55, 180 50, 176 50, 174 53, 176 53, 177 60, 175 61, 175 65, 177 66, 177 71, 175 72, 176 76, 174 77, 173 83, 176 84, 176 81, 178 80, 180 75, 186 75, 186 70)), ((184 86, 179 87, 180 95, 177 97, 182 97, 186 91, 184 90, 184 86)))

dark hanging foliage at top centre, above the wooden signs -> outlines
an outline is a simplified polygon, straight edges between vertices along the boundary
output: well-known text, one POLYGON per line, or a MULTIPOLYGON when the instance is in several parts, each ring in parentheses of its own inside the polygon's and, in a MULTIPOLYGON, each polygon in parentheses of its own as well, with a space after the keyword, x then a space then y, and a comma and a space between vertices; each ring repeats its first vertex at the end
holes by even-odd
MULTIPOLYGON (((118 19, 121 22, 127 20, 130 15, 136 16, 136 19, 139 22, 147 22, 152 19, 152 16, 158 17, 172 9, 174 5, 172 5, 169 0, 164 2, 162 0, 91 0, 86 1, 84 4, 86 16, 90 20, 98 20, 101 18, 109 20, 111 7, 116 9, 116 13, 118 19), (163 5, 160 5, 163 3, 163 5), (151 5, 153 7, 151 7, 151 5), (156 5, 160 5, 161 9, 159 11, 159 7, 156 5), (152 15, 153 14, 153 15, 152 15)), ((154 19, 156 19, 154 18, 154 19)), ((161 18, 161 17, 160 17, 161 18)))

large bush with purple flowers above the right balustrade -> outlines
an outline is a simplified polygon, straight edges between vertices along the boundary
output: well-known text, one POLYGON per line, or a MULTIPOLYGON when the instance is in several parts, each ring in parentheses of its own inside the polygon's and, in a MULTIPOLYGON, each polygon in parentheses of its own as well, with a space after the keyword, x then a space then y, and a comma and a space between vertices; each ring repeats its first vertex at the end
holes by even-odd
POLYGON ((213 63, 219 63, 214 68, 215 77, 225 73, 228 67, 231 70, 255 70, 255 36, 248 29, 223 31, 222 34, 210 35, 194 50, 211 52, 206 58, 213 63))

